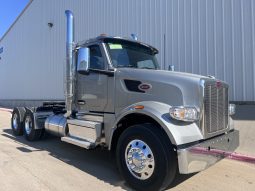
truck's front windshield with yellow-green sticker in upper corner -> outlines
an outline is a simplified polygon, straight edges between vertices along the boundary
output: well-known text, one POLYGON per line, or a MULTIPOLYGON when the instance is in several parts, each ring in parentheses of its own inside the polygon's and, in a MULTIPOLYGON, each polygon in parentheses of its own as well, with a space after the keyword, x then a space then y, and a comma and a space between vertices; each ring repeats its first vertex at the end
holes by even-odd
POLYGON ((115 68, 159 69, 155 51, 141 44, 108 40, 108 51, 115 68))

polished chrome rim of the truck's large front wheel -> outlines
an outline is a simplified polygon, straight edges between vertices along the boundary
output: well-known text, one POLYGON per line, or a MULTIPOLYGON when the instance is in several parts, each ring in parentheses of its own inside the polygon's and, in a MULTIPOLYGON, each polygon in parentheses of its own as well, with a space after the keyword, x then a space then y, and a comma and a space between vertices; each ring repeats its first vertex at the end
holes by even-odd
POLYGON ((137 179, 150 178, 155 169, 155 161, 150 147, 141 140, 129 142, 125 152, 129 172, 137 179))

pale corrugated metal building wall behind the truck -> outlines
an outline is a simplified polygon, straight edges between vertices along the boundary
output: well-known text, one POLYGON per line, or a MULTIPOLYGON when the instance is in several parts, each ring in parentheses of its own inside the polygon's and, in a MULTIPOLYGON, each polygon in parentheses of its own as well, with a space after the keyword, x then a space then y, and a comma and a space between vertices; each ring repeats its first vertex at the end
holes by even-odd
POLYGON ((254 0, 32 0, 0 40, 0 105, 63 100, 65 15, 75 40, 138 35, 161 67, 213 75, 255 101, 254 0))

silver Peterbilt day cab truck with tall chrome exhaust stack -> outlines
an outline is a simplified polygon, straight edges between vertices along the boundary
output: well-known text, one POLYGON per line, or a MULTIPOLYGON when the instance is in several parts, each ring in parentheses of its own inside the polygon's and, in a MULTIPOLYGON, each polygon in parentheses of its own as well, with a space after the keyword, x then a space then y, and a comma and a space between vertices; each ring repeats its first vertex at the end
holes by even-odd
POLYGON ((162 190, 176 173, 202 171, 239 144, 228 85, 213 77, 160 70, 158 50, 137 40, 99 36, 74 43, 66 11, 65 102, 17 107, 16 136, 45 133, 86 149, 115 153, 136 190, 162 190), (217 154, 216 154, 217 153, 217 154))

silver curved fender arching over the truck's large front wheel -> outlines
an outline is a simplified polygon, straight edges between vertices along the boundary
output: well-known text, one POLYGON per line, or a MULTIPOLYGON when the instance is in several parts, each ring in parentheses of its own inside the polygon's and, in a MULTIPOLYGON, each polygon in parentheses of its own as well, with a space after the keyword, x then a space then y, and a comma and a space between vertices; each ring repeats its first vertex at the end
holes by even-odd
POLYGON ((170 141, 174 145, 182 145, 203 139, 202 133, 196 123, 176 121, 169 115, 171 106, 155 101, 143 101, 130 105, 123 109, 115 122, 110 136, 109 148, 114 131, 117 129, 118 122, 125 116, 137 113, 144 114, 154 119, 164 129, 170 141), (135 106, 144 106, 143 109, 135 109, 135 106))

